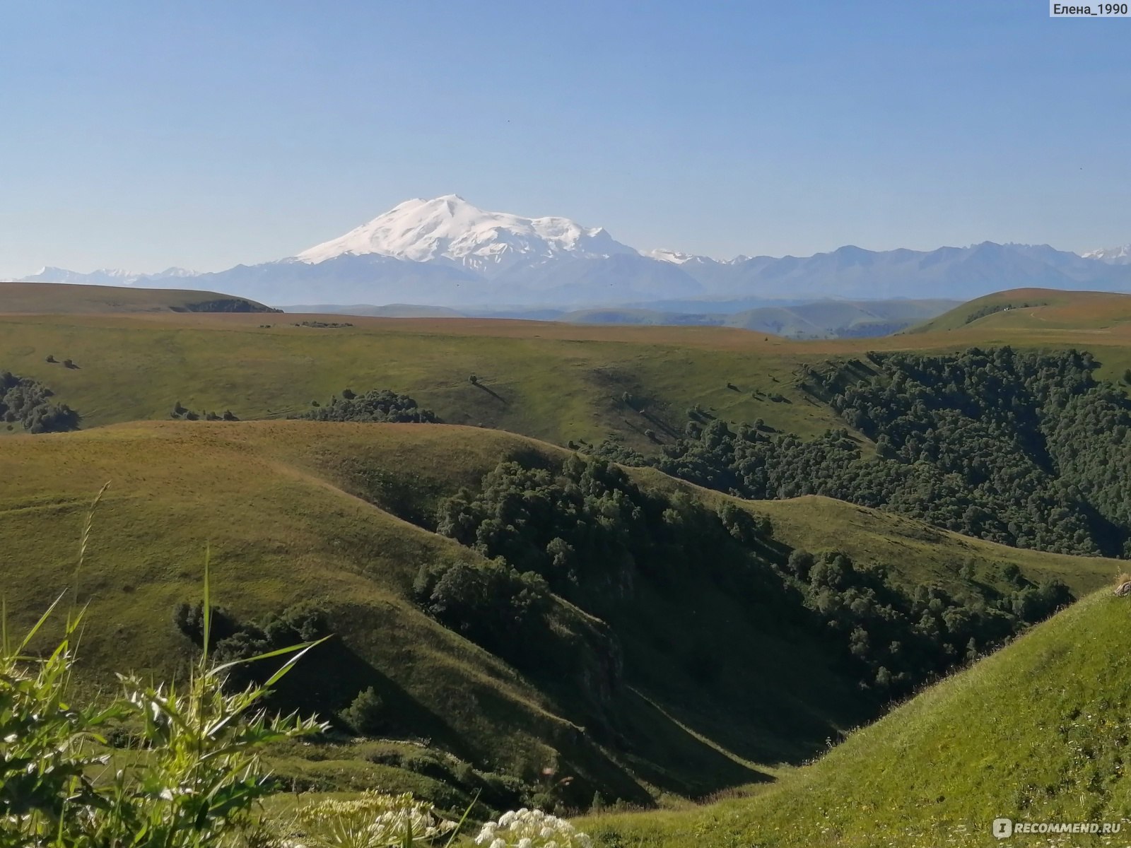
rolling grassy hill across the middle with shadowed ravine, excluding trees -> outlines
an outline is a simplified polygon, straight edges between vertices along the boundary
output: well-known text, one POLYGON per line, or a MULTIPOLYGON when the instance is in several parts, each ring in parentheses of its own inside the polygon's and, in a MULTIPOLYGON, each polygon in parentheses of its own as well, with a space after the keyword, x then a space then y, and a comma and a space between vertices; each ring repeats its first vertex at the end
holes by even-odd
MULTIPOLYGON (((1063 576, 1078 591, 1117 568, 817 499, 739 502, 641 469, 634 485, 659 499, 648 509, 674 510, 664 518, 674 535, 648 548, 653 559, 610 572, 620 574, 614 594, 564 585, 572 599, 547 596, 549 630, 524 640, 542 644, 539 659, 511 656, 506 643, 484 650, 474 633, 425 614, 414 595, 422 565, 485 563, 433 531, 442 499, 476 488, 500 460, 536 469, 568 456, 446 425, 167 422, 15 436, 0 453, 8 607, 27 623, 70 582, 87 504, 111 481, 77 578, 90 602, 88 685, 107 682, 110 669, 183 667, 192 648, 173 613, 199 598, 207 544, 214 591, 234 620, 302 603, 326 611, 339 648, 312 660, 296 703, 333 715, 372 685, 388 704, 386 735, 430 738, 433 751, 532 785, 552 767, 576 777, 570 803, 587 806, 597 790, 648 804, 763 781, 874 715, 878 695, 857 685, 855 660, 820 635, 827 626, 775 571, 795 548, 840 550, 907 587, 956 597, 1012 591, 1010 564, 1033 580, 1063 576), (772 536, 740 545, 711 535, 724 503, 770 513, 772 536)), ((361 788, 380 775, 439 791, 406 784, 404 770, 365 751, 299 750, 280 771, 316 788, 361 788)))

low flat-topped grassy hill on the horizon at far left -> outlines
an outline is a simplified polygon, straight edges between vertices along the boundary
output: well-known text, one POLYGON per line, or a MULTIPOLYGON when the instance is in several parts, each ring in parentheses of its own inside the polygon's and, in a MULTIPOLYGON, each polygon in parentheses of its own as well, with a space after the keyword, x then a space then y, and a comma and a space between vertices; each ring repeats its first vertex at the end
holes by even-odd
MULTIPOLYGON (((0 283, 0 314, 92 314, 192 311, 201 303, 245 301, 245 297, 178 288, 128 288, 68 283, 0 283)), ((214 306, 215 308, 215 306, 214 306)))

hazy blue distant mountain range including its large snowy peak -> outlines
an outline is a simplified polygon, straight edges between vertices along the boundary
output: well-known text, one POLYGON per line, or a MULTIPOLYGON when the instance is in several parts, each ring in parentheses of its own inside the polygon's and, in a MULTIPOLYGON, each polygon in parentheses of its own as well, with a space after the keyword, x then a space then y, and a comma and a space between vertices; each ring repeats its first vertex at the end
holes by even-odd
MULTIPOLYGON (((844 246, 812 257, 641 252, 568 218, 492 213, 457 194, 407 200, 293 257, 215 274, 44 268, 26 282, 192 286, 273 305, 413 303, 579 309, 734 298, 969 300, 1004 288, 1131 291, 1131 245, 1078 256, 1046 244, 933 251, 844 246)), ((709 310, 706 305, 703 311, 709 310)))

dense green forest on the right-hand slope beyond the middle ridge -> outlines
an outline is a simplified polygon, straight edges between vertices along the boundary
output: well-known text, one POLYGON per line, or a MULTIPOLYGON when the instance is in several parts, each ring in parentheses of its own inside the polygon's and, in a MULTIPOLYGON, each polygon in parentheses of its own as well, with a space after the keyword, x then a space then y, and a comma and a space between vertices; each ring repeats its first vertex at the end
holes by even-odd
POLYGON ((690 421, 659 457, 595 451, 742 497, 821 494, 1017 547, 1131 555, 1131 406, 1095 369, 1088 353, 1009 347, 809 369, 874 458, 846 429, 803 441, 718 419, 690 421))

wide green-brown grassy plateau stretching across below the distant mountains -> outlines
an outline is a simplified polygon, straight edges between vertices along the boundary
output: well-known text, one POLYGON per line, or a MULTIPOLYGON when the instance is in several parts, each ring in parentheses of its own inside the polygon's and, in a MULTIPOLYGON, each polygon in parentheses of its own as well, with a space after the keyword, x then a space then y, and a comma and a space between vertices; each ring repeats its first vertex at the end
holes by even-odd
MULTIPOLYGON (((1041 292, 1024 294, 1031 300, 1041 292)), ((1086 347, 1102 363, 1097 378, 1122 377, 1131 366, 1131 325, 1105 315, 1111 298, 1131 304, 1131 297, 1053 294, 1064 298, 1059 309, 1067 315, 1055 321, 1021 322, 1013 310, 955 330, 822 341, 718 327, 487 319, 352 317, 353 327, 314 328, 295 327, 310 317, 291 314, 0 314, 0 367, 45 383, 83 415, 84 427, 164 419, 178 401, 197 410, 231 409, 241 418, 286 417, 347 387, 388 388, 452 424, 555 444, 612 434, 649 448, 646 430, 662 443, 672 441, 694 404, 728 421, 762 418, 802 436, 844 426, 800 389, 798 370, 872 349, 1086 347), (48 363, 48 355, 77 367, 48 363), (480 386, 469 382, 473 373, 480 386), (628 408, 624 392, 650 417, 628 408)))

